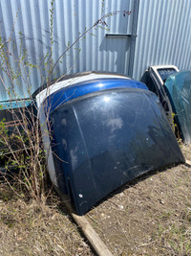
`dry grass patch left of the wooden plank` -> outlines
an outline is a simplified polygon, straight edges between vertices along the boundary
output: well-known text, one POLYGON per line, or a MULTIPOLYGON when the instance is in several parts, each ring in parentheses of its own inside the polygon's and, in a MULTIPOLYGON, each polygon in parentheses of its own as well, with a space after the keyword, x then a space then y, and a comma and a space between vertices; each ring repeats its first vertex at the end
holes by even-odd
POLYGON ((93 255, 57 198, 26 202, 2 183, 0 225, 0 255, 93 255))

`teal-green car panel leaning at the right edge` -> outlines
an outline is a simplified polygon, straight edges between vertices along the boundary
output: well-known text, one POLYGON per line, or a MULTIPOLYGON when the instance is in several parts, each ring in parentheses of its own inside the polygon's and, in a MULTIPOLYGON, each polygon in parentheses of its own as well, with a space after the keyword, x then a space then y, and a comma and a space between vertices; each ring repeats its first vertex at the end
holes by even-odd
POLYGON ((170 76, 165 82, 169 100, 175 112, 180 135, 185 143, 191 142, 191 72, 183 71, 170 76))

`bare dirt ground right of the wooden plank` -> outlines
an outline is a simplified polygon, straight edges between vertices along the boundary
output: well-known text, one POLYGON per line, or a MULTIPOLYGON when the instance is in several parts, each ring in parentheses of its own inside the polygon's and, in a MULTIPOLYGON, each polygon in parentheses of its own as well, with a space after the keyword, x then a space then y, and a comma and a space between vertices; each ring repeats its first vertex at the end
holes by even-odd
MULTIPOLYGON (((182 147, 191 160, 191 147, 182 147)), ((191 255, 191 167, 153 172, 87 215, 114 255, 191 255)))

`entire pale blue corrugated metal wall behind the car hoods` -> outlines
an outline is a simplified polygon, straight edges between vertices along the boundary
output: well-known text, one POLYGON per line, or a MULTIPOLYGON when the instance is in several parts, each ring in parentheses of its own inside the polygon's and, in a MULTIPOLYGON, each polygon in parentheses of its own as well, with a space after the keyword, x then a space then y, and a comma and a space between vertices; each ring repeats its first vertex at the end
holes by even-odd
MULTIPOLYGON (((54 0, 54 61, 101 17, 103 3, 103 13, 130 10, 132 14, 110 16, 106 20, 110 31, 107 27, 94 29, 93 35, 78 41, 55 67, 56 78, 64 73, 98 70, 133 75, 138 80, 148 65, 175 64, 191 69, 191 0, 54 0), (108 33, 138 37, 106 37, 108 33)), ((20 98, 29 96, 29 83, 33 92, 45 82, 43 58, 50 53, 51 8, 51 0, 0 0, 0 35, 9 46, 8 60, 18 76, 12 86, 20 98), (13 61, 24 49, 25 61, 39 66, 32 69, 30 82, 26 65, 19 77, 19 63, 13 61)), ((10 88, 11 81, 2 72, 0 75, 0 101, 6 101, 10 92, 5 87, 10 88)))

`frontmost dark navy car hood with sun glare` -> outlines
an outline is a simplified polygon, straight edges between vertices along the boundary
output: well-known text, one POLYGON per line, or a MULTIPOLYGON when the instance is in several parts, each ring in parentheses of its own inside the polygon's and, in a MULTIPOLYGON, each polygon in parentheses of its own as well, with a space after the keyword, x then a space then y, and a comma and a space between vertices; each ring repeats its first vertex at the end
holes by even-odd
POLYGON ((94 92, 50 119, 57 184, 79 215, 138 175, 184 161, 158 98, 146 90, 94 92))

